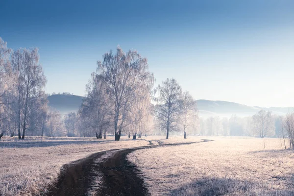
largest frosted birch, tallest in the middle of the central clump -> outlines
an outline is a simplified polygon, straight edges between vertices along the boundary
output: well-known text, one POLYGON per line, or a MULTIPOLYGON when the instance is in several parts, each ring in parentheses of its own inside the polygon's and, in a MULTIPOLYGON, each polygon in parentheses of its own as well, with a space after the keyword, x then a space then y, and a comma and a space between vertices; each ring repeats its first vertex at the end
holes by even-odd
POLYGON ((136 90, 152 82, 153 74, 148 71, 146 58, 136 51, 124 53, 121 48, 117 48, 115 54, 112 51, 104 54, 103 62, 98 61, 96 74, 105 85, 106 94, 102 100, 110 111, 115 140, 118 141, 127 126, 129 107, 136 102, 136 90))

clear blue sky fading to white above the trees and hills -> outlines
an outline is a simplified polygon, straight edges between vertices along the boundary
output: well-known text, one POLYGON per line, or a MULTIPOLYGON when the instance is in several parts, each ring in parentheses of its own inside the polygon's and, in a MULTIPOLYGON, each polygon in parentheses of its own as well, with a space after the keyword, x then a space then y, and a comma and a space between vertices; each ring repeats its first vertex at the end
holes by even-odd
POLYGON ((294 106, 293 0, 1 0, 0 37, 40 49, 48 93, 84 95, 120 45, 195 99, 294 106))

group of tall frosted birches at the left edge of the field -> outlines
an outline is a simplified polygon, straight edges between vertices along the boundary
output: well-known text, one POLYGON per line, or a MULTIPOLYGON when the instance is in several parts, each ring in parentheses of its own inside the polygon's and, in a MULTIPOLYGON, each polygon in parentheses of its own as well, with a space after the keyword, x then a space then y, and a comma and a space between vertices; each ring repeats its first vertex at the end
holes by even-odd
POLYGON ((61 115, 49 109, 45 85, 38 49, 13 51, 0 38, 0 138, 53 136, 61 131, 61 115))

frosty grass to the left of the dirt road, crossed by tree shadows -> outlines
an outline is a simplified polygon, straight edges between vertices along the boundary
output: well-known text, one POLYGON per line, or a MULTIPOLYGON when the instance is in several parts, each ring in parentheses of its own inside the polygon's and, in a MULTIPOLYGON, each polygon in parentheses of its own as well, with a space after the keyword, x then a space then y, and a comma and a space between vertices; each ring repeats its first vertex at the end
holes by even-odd
POLYGON ((46 192, 63 164, 84 158, 94 152, 115 148, 147 146, 145 140, 122 137, 95 138, 27 137, 0 140, 0 196, 29 196, 46 192))

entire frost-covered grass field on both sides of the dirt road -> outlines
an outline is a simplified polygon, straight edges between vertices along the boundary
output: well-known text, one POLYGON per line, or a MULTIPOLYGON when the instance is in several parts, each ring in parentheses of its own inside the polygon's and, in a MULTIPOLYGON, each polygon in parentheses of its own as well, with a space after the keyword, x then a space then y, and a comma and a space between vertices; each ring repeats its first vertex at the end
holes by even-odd
POLYGON ((214 141, 136 150, 128 159, 141 170, 148 191, 159 195, 294 195, 294 151, 279 139, 148 136, 114 138, 27 137, 0 140, 0 195, 42 195, 62 165, 119 148, 214 141), (150 142, 149 142, 150 141, 150 142))

